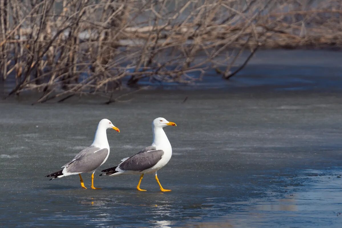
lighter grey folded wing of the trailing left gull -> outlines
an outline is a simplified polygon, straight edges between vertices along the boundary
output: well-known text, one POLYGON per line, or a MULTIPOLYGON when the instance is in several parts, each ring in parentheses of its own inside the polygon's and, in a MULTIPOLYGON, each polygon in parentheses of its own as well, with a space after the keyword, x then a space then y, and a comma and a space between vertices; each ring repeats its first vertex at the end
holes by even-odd
POLYGON ((97 169, 108 155, 108 149, 87 153, 66 166, 68 173, 86 173, 97 169))

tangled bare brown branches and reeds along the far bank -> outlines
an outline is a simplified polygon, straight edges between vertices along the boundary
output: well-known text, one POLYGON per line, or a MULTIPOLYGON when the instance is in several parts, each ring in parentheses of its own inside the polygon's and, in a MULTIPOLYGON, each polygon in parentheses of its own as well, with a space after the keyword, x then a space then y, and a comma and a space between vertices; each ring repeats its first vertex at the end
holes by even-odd
MULTIPOLYGON (((0 6, 3 96, 35 91, 39 103, 84 94, 110 101, 117 90, 188 85, 208 75, 224 83, 260 50, 339 50, 342 43, 339 0, 1 0, 0 6)), ((263 63, 278 57, 287 65, 277 51, 267 57, 263 63)))

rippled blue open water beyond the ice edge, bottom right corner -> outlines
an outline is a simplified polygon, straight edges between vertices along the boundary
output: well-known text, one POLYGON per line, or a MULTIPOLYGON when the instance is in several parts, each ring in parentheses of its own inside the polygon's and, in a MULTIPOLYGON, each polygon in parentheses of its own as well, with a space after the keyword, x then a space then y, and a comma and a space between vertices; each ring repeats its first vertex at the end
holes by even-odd
MULTIPOLYGON (((291 173, 291 171, 289 171, 291 173)), ((305 170, 282 189, 268 197, 232 202, 234 210, 201 224, 186 227, 340 227, 341 226, 341 169, 305 170), (296 179, 296 180, 295 180, 296 179)))

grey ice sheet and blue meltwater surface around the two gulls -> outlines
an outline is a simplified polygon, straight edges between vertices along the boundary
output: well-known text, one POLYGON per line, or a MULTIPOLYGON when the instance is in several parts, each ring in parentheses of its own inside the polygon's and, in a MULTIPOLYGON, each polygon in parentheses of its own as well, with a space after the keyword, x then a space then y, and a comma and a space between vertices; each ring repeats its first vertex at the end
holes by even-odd
POLYGON ((333 88, 149 90, 111 105, 2 100, 0 226, 340 227, 342 103, 333 88), (104 169, 150 145, 156 117, 177 123, 165 128, 173 156, 158 172, 172 192, 153 175, 146 192, 135 189, 139 176, 96 172, 101 190, 81 189, 77 175, 44 177, 91 144, 102 118, 121 130, 107 131, 104 169))

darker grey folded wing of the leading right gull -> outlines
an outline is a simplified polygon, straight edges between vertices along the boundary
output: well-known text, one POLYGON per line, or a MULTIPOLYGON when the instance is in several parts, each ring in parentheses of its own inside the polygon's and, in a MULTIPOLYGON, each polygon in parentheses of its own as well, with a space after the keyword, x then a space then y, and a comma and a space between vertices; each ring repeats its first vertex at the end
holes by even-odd
MULTIPOLYGON (((147 148, 147 147, 146 147, 147 148)), ((145 149, 146 149, 145 148, 145 149)), ((123 161, 118 168, 121 170, 143 171, 153 167, 164 155, 163 150, 140 151, 136 155, 123 161)))

